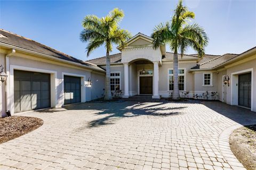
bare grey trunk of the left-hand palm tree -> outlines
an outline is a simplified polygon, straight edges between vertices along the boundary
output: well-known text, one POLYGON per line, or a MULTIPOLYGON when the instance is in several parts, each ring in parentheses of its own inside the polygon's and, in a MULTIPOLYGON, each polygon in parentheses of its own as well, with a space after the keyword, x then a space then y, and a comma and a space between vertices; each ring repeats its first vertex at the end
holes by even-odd
POLYGON ((106 81, 105 81, 105 97, 104 100, 111 100, 111 89, 110 89, 110 56, 109 50, 106 53, 106 81))

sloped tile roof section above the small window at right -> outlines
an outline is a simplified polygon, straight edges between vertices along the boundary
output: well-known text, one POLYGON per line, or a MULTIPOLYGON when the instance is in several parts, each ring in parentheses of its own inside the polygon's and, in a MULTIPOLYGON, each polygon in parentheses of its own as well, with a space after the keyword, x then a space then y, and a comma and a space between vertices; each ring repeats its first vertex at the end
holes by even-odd
POLYGON ((222 63, 225 63, 225 62, 235 58, 236 56, 238 56, 238 54, 223 54, 221 56, 214 57, 211 60, 198 63, 198 65, 192 67, 191 70, 193 70, 193 69, 213 69, 214 67, 216 67, 222 63))

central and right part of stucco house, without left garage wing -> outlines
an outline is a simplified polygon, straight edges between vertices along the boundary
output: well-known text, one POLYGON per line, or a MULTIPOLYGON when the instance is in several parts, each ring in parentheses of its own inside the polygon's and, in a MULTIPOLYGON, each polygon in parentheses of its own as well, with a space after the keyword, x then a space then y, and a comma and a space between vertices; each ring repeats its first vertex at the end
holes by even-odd
MULTIPOLYGON (((173 53, 165 46, 154 50, 152 39, 138 33, 127 41, 121 53, 110 56, 111 90, 123 97, 151 95, 170 97, 173 90, 173 53)), ((87 61, 103 69, 104 57, 87 61)), ((181 97, 218 99, 256 111, 256 47, 242 54, 179 55, 181 97), (229 79, 223 82, 223 78, 229 79), (227 83, 227 84, 225 84, 227 83)))

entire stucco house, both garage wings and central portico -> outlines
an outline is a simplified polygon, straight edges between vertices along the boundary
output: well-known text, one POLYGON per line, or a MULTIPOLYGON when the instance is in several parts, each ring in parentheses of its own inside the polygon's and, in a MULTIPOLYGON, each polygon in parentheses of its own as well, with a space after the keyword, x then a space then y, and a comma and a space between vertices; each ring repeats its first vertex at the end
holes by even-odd
MULTIPOLYGON (((111 91, 122 97, 170 97, 173 53, 153 49, 152 39, 138 33, 121 53, 110 56, 111 91)), ((81 61, 31 39, 0 30, 0 65, 7 79, 0 84, 0 112, 11 114, 62 107, 101 98, 106 57, 81 61)), ((182 97, 218 99, 256 112, 256 47, 242 54, 179 56, 182 97), (229 78, 223 82, 223 78, 229 78)))

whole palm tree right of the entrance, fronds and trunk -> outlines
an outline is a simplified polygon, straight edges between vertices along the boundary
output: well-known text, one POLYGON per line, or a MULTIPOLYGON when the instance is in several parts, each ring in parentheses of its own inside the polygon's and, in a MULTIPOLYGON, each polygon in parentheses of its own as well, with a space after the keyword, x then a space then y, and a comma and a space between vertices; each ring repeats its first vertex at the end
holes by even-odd
POLYGON ((194 19, 194 12, 188 11, 186 6, 182 5, 182 0, 174 10, 172 20, 166 23, 157 25, 151 35, 153 38, 153 46, 155 49, 161 45, 170 45, 173 54, 173 99, 179 99, 178 86, 178 51, 180 50, 181 57, 186 52, 188 47, 193 48, 198 57, 204 56, 204 48, 208 44, 206 32, 198 24, 189 24, 190 19, 194 19))

